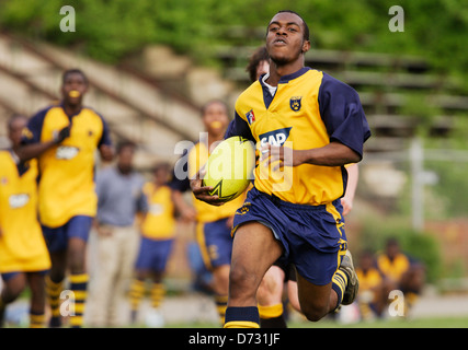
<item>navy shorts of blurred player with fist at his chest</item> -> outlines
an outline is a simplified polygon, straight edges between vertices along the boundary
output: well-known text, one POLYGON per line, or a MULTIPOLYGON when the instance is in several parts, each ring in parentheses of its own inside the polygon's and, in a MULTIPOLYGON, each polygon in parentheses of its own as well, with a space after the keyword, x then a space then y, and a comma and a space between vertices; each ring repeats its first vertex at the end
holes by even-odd
POLYGON ((93 218, 77 215, 71 218, 65 225, 58 228, 47 228, 43 225, 43 234, 50 253, 65 250, 68 247, 68 240, 71 237, 81 238, 88 242, 93 218))

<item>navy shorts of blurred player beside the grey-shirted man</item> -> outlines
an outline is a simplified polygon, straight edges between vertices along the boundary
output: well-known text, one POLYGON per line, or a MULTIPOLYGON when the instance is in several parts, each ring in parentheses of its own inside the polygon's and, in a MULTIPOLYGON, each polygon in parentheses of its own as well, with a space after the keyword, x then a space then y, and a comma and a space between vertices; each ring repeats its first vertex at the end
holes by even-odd
POLYGON ((165 271, 174 240, 151 240, 141 237, 140 248, 135 267, 138 270, 156 272, 165 271))

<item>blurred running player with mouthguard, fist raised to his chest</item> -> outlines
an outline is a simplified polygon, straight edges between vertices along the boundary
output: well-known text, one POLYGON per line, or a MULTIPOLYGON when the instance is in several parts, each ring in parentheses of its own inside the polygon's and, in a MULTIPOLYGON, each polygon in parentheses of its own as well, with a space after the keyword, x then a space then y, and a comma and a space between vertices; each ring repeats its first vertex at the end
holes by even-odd
POLYGON ((82 104, 87 91, 88 79, 81 70, 65 71, 61 103, 31 118, 25 145, 19 150, 20 159, 38 160, 38 212, 52 258, 46 282, 50 326, 55 327, 60 325, 59 295, 66 271, 70 272, 69 289, 75 296, 70 326, 82 326, 88 287, 85 247, 98 205, 94 153, 99 150, 104 161, 113 158, 106 122, 82 104))

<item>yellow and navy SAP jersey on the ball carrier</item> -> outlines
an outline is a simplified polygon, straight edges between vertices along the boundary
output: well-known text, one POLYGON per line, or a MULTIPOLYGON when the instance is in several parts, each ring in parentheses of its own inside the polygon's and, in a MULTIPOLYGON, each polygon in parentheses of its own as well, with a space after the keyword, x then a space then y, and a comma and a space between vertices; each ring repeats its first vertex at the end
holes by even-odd
MULTIPOLYGON (((262 75, 236 102, 236 116, 226 138, 242 136, 258 148, 270 143, 293 150, 341 142, 361 156, 370 137, 357 93, 321 71, 301 68, 281 78, 272 97, 262 75)), ((344 166, 301 164, 273 173, 255 167, 254 186, 269 195, 300 205, 321 205, 343 196, 344 166)))

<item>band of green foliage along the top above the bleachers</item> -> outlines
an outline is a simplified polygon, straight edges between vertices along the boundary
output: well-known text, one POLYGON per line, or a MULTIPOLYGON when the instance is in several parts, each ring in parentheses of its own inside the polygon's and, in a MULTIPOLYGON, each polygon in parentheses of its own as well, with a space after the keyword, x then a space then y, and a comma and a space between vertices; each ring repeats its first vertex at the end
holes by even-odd
POLYGON ((146 44, 168 44, 202 59, 214 45, 259 45, 278 10, 299 12, 312 46, 427 57, 440 70, 466 77, 468 5, 459 0, 401 0, 404 32, 391 33, 392 0, 4 0, 0 28, 75 45, 94 58, 117 62, 146 44), (75 33, 59 31, 64 4, 76 10, 75 33), (260 10, 260 11, 259 11, 260 10), (239 38, 238 28, 243 35, 239 38), (262 31, 260 31, 262 33, 262 31), (233 40, 236 38, 236 40, 233 40))

